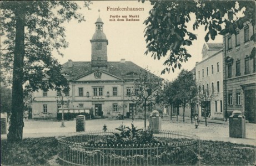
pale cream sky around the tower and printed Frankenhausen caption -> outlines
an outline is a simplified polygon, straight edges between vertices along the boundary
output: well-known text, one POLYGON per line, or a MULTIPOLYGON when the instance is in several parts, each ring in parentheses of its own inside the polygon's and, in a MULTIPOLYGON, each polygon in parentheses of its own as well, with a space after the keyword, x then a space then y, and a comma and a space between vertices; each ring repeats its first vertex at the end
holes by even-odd
MULTIPOLYGON (((77 1, 81 7, 83 2, 77 1)), ((66 27, 66 40, 69 43, 69 47, 62 50, 64 56, 60 56, 57 53, 53 55, 58 59, 59 63, 64 64, 69 59, 72 61, 91 61, 91 42, 92 36, 96 30, 95 22, 98 17, 101 17, 104 25, 103 32, 108 39, 108 61, 120 61, 126 59, 126 61, 132 61, 142 68, 150 69, 154 74, 162 77, 163 79, 173 80, 177 77, 180 70, 177 68, 175 72, 172 71, 168 74, 160 75, 161 71, 165 68, 163 66, 164 58, 160 60, 154 60, 149 53, 144 55, 147 43, 144 38, 145 24, 144 20, 149 16, 149 11, 152 9, 150 2, 144 3, 136 1, 93 1, 90 5, 91 10, 82 8, 79 12, 84 14, 86 22, 78 23, 77 20, 72 20, 69 23, 65 23, 66 27), (107 7, 141 7, 144 11, 107 11, 107 7), (98 12, 100 10, 100 12, 98 12), (138 22, 118 22, 110 21, 111 15, 138 15, 138 22)), ((194 15, 191 15, 192 20, 194 15)), ((116 19, 117 20, 117 19, 116 19)), ((192 30, 193 21, 190 22, 187 27, 188 30, 192 30)), ((192 55, 192 58, 187 63, 182 64, 182 69, 192 70, 195 66, 195 62, 202 59, 202 48, 204 44, 204 27, 199 27, 198 30, 193 32, 197 34, 198 39, 193 42, 191 46, 188 46, 188 53, 192 55)), ((220 43, 222 42, 222 36, 218 35, 215 40, 209 40, 208 43, 220 43)))

